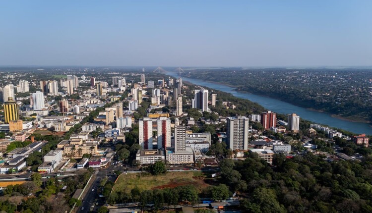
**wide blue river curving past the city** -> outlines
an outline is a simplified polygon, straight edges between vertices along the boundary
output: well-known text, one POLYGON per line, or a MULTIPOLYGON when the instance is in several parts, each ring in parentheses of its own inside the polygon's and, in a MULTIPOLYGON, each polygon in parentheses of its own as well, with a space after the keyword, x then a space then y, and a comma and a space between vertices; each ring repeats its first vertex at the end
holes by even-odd
MULTIPOLYGON (((178 73, 174 72, 167 72, 167 75, 172 77, 178 78, 178 73)), ((238 92, 235 91, 233 87, 225 86, 218 83, 207 82, 199 79, 194 78, 186 78, 182 77, 183 81, 191 82, 195 85, 209 87, 215 90, 220 90, 226 93, 231 93, 233 96, 248 99, 249 101, 258 103, 259 105, 273 111, 276 113, 281 114, 290 114, 296 113, 301 118, 310 120, 311 122, 318 123, 318 124, 325 124, 331 127, 336 127, 340 129, 344 129, 354 133, 366 133, 368 135, 372 135, 372 127, 369 123, 361 123, 361 122, 352 122, 343 119, 339 119, 336 117, 332 117, 330 114, 325 112, 318 112, 312 111, 307 108, 303 108, 300 106, 295 106, 280 100, 272 99, 269 97, 254 95, 250 93, 238 92)))

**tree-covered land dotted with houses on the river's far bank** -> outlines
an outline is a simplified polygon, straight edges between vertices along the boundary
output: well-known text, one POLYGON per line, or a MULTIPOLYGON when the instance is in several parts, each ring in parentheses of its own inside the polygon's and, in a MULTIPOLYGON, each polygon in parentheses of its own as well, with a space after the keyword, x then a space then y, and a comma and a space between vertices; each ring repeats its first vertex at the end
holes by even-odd
POLYGON ((371 70, 230 68, 189 71, 186 76, 352 120, 372 121, 371 70))

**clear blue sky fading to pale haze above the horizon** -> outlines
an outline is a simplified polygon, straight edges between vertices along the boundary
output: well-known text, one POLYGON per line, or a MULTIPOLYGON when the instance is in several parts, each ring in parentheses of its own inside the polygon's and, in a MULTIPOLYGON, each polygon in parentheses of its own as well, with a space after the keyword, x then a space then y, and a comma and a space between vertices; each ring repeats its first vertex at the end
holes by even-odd
POLYGON ((9 0, 0 65, 372 65, 372 0, 9 0))

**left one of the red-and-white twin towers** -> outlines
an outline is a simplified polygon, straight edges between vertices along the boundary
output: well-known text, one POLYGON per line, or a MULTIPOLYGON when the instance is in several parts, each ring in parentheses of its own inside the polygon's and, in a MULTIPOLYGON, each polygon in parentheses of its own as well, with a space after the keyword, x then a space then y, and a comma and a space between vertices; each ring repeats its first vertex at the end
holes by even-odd
POLYGON ((139 145, 144 150, 152 150, 152 120, 148 117, 138 121, 139 145))

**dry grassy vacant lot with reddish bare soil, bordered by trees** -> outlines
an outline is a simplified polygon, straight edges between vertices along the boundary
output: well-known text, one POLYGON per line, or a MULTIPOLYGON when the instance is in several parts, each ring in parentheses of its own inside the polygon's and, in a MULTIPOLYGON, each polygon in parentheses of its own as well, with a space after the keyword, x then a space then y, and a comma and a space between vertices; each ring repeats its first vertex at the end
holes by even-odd
POLYGON ((155 188, 175 188, 177 186, 194 185, 199 190, 209 186, 204 182, 206 175, 201 171, 167 172, 165 175, 151 175, 149 173, 123 174, 113 187, 113 192, 130 191, 137 187, 142 190, 155 188))

